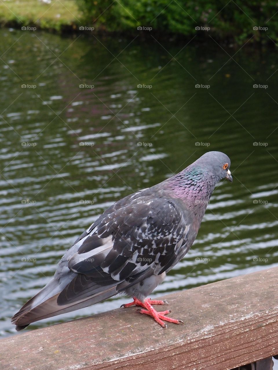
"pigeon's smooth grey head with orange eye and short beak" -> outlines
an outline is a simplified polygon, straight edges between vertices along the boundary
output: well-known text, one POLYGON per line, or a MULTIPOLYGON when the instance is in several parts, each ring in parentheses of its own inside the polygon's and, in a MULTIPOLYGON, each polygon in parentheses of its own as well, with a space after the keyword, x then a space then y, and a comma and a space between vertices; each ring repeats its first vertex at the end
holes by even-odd
POLYGON ((230 158, 222 152, 207 152, 202 155, 195 164, 206 169, 206 172, 214 177, 217 181, 227 179, 233 181, 231 171, 229 170, 231 161, 230 158))

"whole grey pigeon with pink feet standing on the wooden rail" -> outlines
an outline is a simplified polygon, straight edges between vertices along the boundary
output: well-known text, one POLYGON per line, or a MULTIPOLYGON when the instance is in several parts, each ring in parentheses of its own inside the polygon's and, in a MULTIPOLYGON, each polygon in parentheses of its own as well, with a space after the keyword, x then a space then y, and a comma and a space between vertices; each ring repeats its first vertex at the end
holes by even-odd
POLYGON ((53 279, 11 319, 16 330, 125 294, 167 327, 171 311, 148 295, 192 246, 208 201, 221 179, 232 182, 229 157, 206 152, 183 171, 115 202, 77 238, 58 263, 53 279))

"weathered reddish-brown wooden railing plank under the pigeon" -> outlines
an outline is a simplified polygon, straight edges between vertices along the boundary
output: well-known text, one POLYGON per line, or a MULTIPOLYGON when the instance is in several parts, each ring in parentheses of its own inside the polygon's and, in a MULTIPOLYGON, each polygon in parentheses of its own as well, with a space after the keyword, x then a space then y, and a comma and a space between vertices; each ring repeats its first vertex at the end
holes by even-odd
POLYGON ((168 329, 132 307, 8 337, 0 369, 232 369, 278 354, 277 282, 272 268, 167 295, 185 323, 168 329))

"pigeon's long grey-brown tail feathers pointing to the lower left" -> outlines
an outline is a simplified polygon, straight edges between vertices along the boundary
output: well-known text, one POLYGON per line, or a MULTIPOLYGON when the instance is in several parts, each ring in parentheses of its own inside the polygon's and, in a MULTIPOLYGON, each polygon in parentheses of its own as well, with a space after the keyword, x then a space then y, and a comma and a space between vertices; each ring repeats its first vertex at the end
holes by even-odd
POLYGON ((100 287, 96 283, 94 285, 76 297, 75 300, 70 299, 68 302, 65 300, 59 302, 58 300, 57 302, 60 293, 62 292, 63 295, 66 292, 67 286, 57 292, 57 280, 53 279, 11 318, 11 322, 16 325, 16 330, 19 331, 35 321, 78 310, 117 294, 115 284, 106 286, 104 289, 103 287, 99 289, 100 287))

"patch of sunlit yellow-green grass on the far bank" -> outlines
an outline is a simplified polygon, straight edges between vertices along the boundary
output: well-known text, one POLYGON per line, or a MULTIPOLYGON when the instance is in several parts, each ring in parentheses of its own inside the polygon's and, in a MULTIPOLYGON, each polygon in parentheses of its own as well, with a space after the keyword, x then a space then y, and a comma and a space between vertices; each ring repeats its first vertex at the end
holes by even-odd
POLYGON ((1 26, 30 26, 63 31, 78 29, 81 12, 74 0, 0 0, 1 26))

